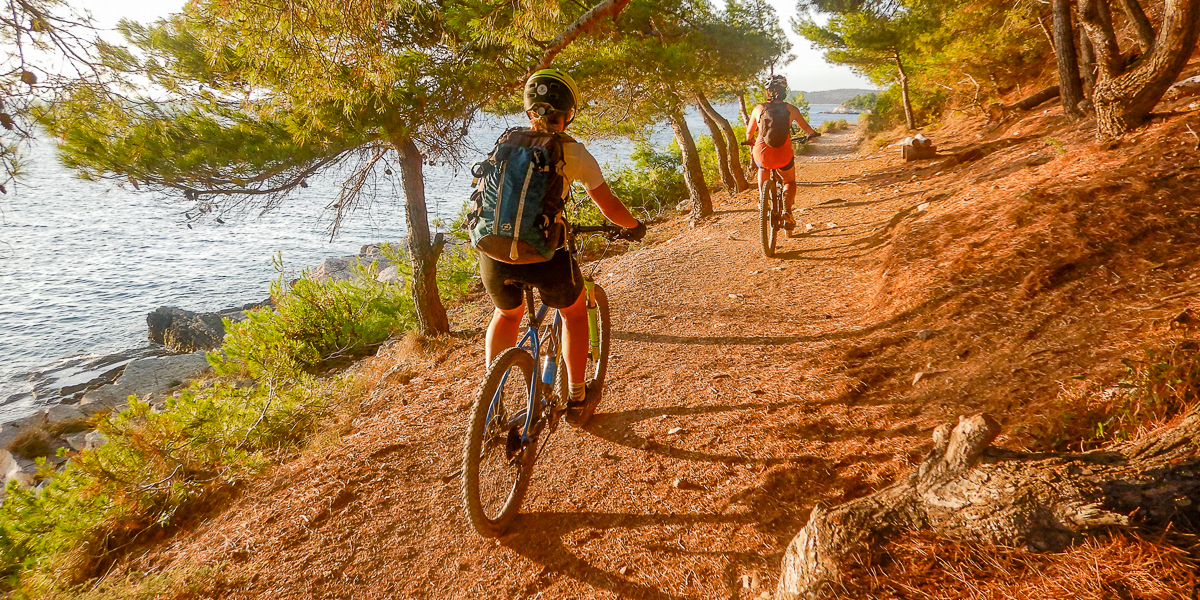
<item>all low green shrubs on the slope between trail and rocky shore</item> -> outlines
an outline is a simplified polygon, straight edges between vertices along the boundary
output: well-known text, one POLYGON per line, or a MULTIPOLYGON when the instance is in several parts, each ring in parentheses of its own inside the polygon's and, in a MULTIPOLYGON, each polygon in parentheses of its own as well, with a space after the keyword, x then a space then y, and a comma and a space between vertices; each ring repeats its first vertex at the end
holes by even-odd
MULTIPOLYGON (((410 277, 402 253, 389 254, 410 277)), ((474 252, 448 247, 443 294, 456 298, 474 277, 474 252)), ((301 277, 287 293, 281 277, 271 295, 274 310, 226 323, 222 352, 210 354, 224 377, 192 383, 161 412, 131 397, 130 408, 97 424, 108 443, 73 456, 58 474, 42 460, 40 476, 52 479, 41 491, 10 485, 0 506, 2 590, 70 596, 120 548, 178 522, 197 500, 218 497, 318 432, 337 433, 361 390, 348 377, 313 373, 415 323, 407 287, 376 281, 374 265, 343 281, 301 277), (234 379, 247 374, 253 385, 234 379)), ((130 593, 151 592, 136 588, 130 593)))

